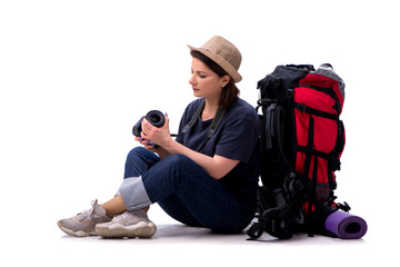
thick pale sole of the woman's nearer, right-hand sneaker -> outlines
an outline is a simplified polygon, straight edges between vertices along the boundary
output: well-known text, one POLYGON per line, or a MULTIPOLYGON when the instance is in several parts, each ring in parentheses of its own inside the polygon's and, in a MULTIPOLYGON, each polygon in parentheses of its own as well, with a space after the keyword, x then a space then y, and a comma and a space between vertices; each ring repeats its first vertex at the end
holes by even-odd
POLYGON ((120 224, 96 226, 96 233, 104 238, 150 238, 156 234, 157 227, 153 222, 140 221, 133 226, 123 226, 120 224))

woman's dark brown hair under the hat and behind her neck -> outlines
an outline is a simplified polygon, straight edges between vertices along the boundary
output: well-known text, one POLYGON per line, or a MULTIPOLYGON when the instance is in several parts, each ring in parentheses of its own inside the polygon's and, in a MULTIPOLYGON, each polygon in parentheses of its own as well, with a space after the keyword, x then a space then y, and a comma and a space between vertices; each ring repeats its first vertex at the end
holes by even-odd
MULTIPOLYGON (((228 75, 228 72, 224 71, 218 63, 216 63, 213 60, 211 60, 209 57, 204 56, 203 53, 196 51, 196 50, 191 50, 190 55, 193 58, 197 58, 201 62, 203 62, 213 72, 216 72, 219 77, 223 77, 223 76, 228 75)), ((222 88, 219 106, 221 106, 221 107, 230 106, 238 98, 239 93, 240 93, 240 90, 234 85, 234 81, 231 77, 229 79, 229 82, 222 88)))

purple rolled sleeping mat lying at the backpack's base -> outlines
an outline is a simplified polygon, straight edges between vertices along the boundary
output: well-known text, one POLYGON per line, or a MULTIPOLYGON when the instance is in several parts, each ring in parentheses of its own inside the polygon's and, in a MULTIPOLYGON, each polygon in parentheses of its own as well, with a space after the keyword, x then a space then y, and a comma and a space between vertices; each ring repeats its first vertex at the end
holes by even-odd
POLYGON ((367 222, 362 218, 337 210, 328 216, 324 228, 342 239, 358 239, 366 235, 367 222))

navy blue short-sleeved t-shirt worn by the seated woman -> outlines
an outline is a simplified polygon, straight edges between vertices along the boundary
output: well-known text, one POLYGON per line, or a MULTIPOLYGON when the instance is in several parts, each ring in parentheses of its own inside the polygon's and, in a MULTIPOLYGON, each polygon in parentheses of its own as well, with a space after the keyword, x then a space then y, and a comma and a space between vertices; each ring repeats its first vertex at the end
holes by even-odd
MULTIPOLYGON (((190 121, 202 101, 203 98, 200 98, 189 103, 181 118, 179 132, 190 121)), ((256 205, 260 159, 260 126, 256 109, 240 98, 234 100, 227 108, 216 134, 203 148, 201 145, 207 140, 212 119, 202 121, 200 117, 188 132, 179 135, 176 140, 210 157, 218 155, 239 160, 240 162, 219 181, 238 198, 256 205)))

